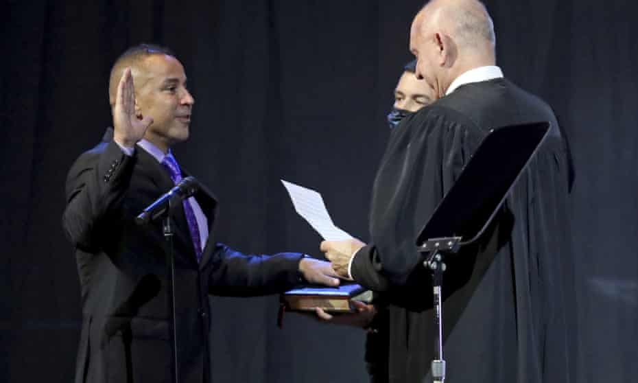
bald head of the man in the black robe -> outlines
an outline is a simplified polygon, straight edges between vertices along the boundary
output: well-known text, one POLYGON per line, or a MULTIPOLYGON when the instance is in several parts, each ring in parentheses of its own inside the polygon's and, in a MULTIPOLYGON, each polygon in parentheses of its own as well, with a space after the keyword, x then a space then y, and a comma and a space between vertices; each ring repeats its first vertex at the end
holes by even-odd
POLYGON ((492 19, 478 0, 429 1, 412 22, 410 51, 417 58, 416 76, 442 97, 460 74, 495 65, 492 19))

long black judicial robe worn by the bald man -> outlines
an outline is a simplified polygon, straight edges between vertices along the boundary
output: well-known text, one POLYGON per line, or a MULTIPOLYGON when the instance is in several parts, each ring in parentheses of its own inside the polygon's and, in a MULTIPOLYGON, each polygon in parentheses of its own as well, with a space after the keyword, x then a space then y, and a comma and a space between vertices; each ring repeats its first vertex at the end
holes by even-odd
POLYGON ((392 131, 373 189, 371 241, 352 268, 385 307, 366 347, 375 382, 432 381, 432 282, 418 231, 488 130, 536 121, 550 121, 550 136, 482 238, 448 259, 446 382, 574 380, 565 142, 550 106, 500 78, 460 86, 392 131))

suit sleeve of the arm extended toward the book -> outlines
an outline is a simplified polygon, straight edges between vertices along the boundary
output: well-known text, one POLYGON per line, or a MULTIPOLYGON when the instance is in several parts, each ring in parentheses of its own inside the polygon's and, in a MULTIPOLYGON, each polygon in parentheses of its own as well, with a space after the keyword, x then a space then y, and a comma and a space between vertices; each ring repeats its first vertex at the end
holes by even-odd
POLYGON ((304 282, 299 253, 245 255, 217 244, 209 274, 209 292, 215 295, 255 297, 290 290, 304 282))

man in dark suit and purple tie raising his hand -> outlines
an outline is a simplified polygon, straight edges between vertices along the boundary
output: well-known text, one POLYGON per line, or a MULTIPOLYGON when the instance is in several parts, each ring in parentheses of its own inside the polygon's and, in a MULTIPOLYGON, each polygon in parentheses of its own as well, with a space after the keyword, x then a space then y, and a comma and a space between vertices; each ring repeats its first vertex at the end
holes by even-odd
MULTIPOLYGON (((188 173, 170 148, 189 135, 194 99, 167 49, 133 47, 113 66, 113 130, 67 178, 63 227, 75 246, 83 326, 76 382, 170 382, 167 245, 161 222, 135 216, 188 173), (133 84, 134 83, 134 84, 133 84)), ((248 256, 211 237, 217 201, 200 187, 172 212, 179 377, 209 382, 208 294, 272 294, 301 281, 338 284, 328 262, 248 256)))

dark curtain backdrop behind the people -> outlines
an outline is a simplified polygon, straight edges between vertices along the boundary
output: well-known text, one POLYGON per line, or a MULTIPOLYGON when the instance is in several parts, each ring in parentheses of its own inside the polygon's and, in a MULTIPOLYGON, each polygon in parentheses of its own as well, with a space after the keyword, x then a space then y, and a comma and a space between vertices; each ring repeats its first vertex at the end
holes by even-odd
MULTIPOLYGON (((2 1, 0 382, 73 375, 80 297, 60 228, 64 177, 110 124, 108 72, 121 51, 161 43, 184 63, 196 105, 191 139, 174 152, 220 197, 217 237, 245 252, 318 255, 279 179, 321 191, 335 222, 367 239, 385 115, 421 3, 2 1)), ((576 376, 633 382, 638 6, 486 5, 499 65, 552 104, 571 142, 576 376)), ((211 300, 215 382, 366 381, 362 331, 296 315, 277 329, 275 297, 211 300)))

